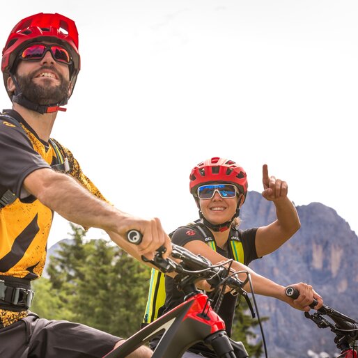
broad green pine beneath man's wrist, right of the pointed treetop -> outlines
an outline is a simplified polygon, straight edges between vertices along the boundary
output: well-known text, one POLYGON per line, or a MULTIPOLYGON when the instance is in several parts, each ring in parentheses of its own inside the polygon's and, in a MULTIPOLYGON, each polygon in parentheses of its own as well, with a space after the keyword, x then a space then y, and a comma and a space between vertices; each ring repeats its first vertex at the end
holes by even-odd
POLYGON ((117 336, 137 332, 149 269, 111 243, 93 240, 86 244, 81 273, 73 301, 77 320, 117 336))

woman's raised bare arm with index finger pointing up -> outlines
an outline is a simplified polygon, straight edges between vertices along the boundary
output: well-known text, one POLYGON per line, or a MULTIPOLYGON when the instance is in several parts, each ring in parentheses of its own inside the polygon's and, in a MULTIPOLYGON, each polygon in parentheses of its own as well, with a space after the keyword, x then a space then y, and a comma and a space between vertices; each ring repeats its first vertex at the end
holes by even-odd
POLYGON ((258 228, 255 240, 258 257, 278 249, 301 226, 295 205, 287 196, 287 183, 274 176, 269 178, 266 164, 263 166, 263 187, 263 197, 275 205, 277 220, 258 228))

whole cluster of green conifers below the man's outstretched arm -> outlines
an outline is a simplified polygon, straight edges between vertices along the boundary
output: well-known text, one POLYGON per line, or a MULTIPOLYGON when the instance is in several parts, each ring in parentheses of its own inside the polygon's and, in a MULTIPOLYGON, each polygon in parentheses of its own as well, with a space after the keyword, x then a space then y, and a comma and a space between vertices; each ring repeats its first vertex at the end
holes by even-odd
POLYGON ((72 225, 70 243, 50 260, 49 279, 36 283, 33 311, 127 337, 140 327, 150 269, 103 239, 85 240, 72 225))

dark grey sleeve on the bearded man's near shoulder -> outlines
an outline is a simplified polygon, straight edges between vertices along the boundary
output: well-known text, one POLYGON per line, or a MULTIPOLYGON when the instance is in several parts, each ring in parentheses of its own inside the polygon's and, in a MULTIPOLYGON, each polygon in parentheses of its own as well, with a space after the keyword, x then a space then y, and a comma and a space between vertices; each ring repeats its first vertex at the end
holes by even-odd
POLYGON ((33 150, 24 130, 7 120, 0 120, 0 196, 10 189, 21 198, 24 179, 41 168, 51 166, 33 150))

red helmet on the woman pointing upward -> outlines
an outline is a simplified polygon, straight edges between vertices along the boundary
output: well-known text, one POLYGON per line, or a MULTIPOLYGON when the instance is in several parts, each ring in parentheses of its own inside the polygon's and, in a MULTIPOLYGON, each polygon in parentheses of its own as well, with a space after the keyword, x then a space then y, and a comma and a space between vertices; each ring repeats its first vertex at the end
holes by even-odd
POLYGON ((230 159, 213 157, 206 159, 192 169, 190 173, 190 192, 196 196, 198 187, 208 182, 230 182, 238 187, 240 193, 247 194, 247 176, 241 166, 230 159))

